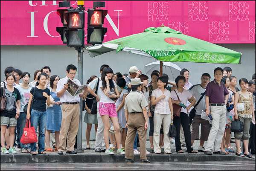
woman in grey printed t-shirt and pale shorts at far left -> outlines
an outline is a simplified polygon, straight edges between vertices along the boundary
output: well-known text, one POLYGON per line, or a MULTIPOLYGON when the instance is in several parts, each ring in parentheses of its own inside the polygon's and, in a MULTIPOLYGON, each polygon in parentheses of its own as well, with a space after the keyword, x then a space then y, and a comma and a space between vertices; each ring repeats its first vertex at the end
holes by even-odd
POLYGON ((13 147, 14 139, 15 139, 15 126, 17 125, 17 119, 20 116, 20 93, 19 90, 13 87, 15 81, 15 76, 13 74, 9 74, 6 76, 7 85, 1 88, 1 100, 4 95, 6 97, 6 106, 5 109, 2 110, 1 106, 1 146, 2 154, 9 154, 9 153, 17 153, 15 148, 13 147), (17 108, 17 110, 16 110, 17 108), (9 152, 6 150, 5 147, 5 134, 6 128, 9 126, 10 132, 10 148, 9 152))

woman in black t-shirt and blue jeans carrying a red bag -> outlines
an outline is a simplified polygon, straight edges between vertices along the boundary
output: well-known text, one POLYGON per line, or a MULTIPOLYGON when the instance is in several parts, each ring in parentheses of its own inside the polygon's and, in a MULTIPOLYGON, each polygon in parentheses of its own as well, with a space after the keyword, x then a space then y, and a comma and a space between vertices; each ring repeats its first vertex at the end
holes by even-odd
MULTIPOLYGON (((51 104, 50 90, 44 87, 46 82, 47 82, 47 78, 46 78, 46 75, 44 75, 44 73, 42 73, 41 75, 38 75, 38 82, 35 84, 35 87, 33 87, 30 91, 29 104, 28 104, 27 116, 26 116, 26 119, 29 119, 31 117, 30 119, 31 126, 35 127, 35 132, 39 124, 38 154, 46 154, 46 152, 44 151, 44 139, 45 139, 45 128, 46 128, 45 101, 47 101, 47 105, 51 104), (35 89, 35 95, 34 95, 35 101, 31 106, 34 89, 35 89), (31 113, 30 113, 30 107, 32 107, 31 113)), ((31 154, 36 155, 36 142, 31 143, 30 146, 31 146, 31 154)))

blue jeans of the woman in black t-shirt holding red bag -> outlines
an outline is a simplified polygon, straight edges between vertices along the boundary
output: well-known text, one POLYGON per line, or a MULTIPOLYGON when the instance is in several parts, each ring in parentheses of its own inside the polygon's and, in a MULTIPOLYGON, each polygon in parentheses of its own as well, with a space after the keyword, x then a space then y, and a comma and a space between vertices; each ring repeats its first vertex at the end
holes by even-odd
MULTIPOLYGON (((39 127, 39 137, 38 137, 38 153, 44 151, 44 138, 45 138, 45 129, 46 129, 46 111, 34 110, 32 109, 31 115, 31 126, 35 127, 35 132, 37 126, 39 127)), ((36 151, 36 142, 31 143, 31 152, 36 151)))

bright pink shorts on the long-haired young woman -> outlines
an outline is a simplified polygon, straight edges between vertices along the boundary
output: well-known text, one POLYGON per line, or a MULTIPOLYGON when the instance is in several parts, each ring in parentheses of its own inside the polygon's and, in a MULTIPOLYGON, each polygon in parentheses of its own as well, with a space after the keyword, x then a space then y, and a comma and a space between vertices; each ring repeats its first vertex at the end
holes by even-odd
POLYGON ((108 117, 117 117, 116 105, 114 103, 99 102, 99 114, 108 115, 108 117))

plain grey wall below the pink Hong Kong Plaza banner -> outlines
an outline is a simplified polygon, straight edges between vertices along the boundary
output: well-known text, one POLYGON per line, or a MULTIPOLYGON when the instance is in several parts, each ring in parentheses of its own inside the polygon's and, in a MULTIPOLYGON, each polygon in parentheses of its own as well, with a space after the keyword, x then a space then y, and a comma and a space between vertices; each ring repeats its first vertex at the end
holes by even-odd
MULTIPOLYGON (((255 73, 255 44, 218 44, 226 48, 242 52, 242 64, 207 64, 191 62, 174 62, 181 69, 186 68, 190 71, 189 81, 192 84, 200 83, 201 74, 208 72, 213 77, 213 70, 216 67, 231 67, 235 75, 239 78, 251 79, 255 73)), ((108 64, 114 72, 128 73, 131 66, 137 66, 145 73, 144 66, 156 60, 129 52, 108 52, 103 55, 91 58, 87 51, 83 58, 83 84, 91 75, 100 75, 99 67, 108 64)), ((55 46, 6 46, 1 45, 1 80, 5 79, 4 70, 12 66, 31 74, 31 81, 35 70, 49 66, 52 70, 51 75, 58 75, 60 78, 66 76, 68 64, 77 66, 77 51, 65 45, 55 46)), ((76 75, 77 78, 77 75, 76 75)), ((239 85, 238 85, 239 87, 239 85)), ((84 114, 84 113, 83 113, 84 114)), ((83 117, 84 118, 84 117, 83 117)), ((83 123, 83 139, 85 139, 86 124, 83 123)), ((95 138, 94 126, 91 131, 90 139, 95 138)))

